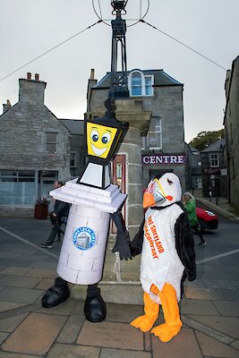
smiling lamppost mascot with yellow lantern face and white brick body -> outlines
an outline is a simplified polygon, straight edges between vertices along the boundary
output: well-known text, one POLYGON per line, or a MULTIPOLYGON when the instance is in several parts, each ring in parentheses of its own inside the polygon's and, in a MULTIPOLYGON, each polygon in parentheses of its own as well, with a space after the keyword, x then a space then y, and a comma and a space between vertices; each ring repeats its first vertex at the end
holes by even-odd
POLYGON ((55 199, 72 205, 57 265, 59 277, 41 301, 43 307, 53 308, 69 298, 68 282, 87 285, 84 313, 90 322, 101 322, 107 315, 98 282, 103 274, 110 218, 117 229, 112 251, 119 252, 121 260, 132 259, 121 211, 127 195, 110 183, 110 161, 115 158, 129 124, 115 118, 114 99, 107 98, 105 106, 104 116, 85 117, 89 162, 83 175, 50 192, 55 199))

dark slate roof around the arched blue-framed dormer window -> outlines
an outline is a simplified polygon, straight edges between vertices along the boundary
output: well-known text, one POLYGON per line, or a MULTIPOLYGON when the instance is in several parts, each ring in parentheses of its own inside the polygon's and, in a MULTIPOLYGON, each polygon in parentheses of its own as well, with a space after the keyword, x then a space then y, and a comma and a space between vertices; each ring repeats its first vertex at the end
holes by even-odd
MULTIPOLYGON (((183 86, 183 83, 176 81, 173 77, 169 76, 163 70, 139 70, 134 69, 132 71, 141 71, 144 75, 153 75, 154 76, 154 86, 183 86)), ((129 75, 132 71, 128 71, 129 75)), ((107 74, 98 81, 98 83, 93 86, 93 89, 107 89, 110 86, 110 75, 111 72, 107 74)))

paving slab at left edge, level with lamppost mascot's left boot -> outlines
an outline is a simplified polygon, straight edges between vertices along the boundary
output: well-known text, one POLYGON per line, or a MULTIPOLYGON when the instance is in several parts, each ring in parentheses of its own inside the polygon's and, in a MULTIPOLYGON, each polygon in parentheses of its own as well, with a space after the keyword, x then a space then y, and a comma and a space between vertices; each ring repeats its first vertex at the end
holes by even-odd
POLYGON ((34 303, 44 291, 21 287, 5 287, 0 291, 0 300, 13 303, 34 303))

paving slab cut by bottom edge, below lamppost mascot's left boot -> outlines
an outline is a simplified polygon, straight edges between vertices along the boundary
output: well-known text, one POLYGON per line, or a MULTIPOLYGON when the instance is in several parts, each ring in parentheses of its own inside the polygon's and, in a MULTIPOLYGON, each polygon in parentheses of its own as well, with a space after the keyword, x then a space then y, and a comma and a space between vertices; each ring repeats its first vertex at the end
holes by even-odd
POLYGON ((100 349, 83 345, 55 344, 47 354, 47 358, 98 358, 100 349))

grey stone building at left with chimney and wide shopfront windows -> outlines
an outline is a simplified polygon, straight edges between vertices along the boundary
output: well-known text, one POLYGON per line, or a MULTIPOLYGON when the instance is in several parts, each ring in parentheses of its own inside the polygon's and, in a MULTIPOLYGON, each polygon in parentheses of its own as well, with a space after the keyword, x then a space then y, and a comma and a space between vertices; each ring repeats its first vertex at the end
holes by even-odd
POLYGON ((47 83, 19 80, 19 101, 0 116, 0 212, 32 213, 55 180, 69 180, 70 132, 45 106, 47 83))

